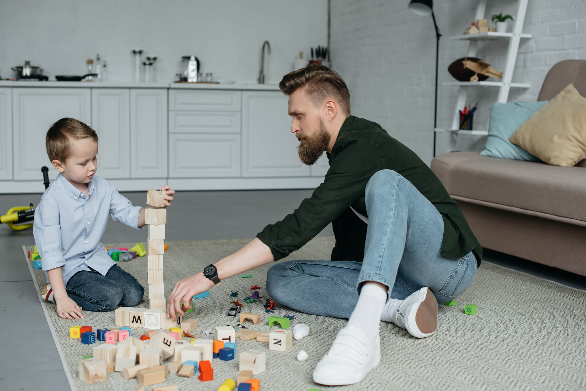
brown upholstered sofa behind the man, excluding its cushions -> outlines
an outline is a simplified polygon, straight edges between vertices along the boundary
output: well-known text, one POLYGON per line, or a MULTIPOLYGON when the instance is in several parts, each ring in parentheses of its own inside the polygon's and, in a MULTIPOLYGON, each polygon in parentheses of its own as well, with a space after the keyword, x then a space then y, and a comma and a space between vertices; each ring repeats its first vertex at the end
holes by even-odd
MULTIPOLYGON (((554 65, 537 100, 570 83, 586 96, 586 60, 554 65)), ((558 167, 452 152, 431 169, 483 247, 586 276, 586 159, 558 167)))

